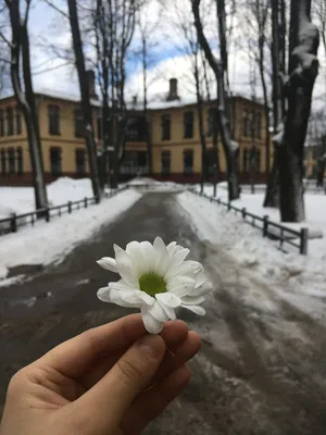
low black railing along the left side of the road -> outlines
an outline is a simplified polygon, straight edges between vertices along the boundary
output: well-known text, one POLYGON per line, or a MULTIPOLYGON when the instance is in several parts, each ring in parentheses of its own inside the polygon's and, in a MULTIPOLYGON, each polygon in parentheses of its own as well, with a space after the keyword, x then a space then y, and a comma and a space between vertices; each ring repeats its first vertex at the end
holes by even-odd
MULTIPOLYGON (((124 186, 120 189, 105 191, 102 198, 111 198, 122 190, 127 189, 128 186, 124 186)), ((71 214, 75 210, 87 209, 89 206, 100 203, 101 198, 91 197, 83 198, 78 201, 68 201, 64 204, 53 206, 46 209, 38 209, 29 213, 16 214, 13 213, 10 217, 0 220, 0 236, 9 233, 16 233, 22 226, 32 225, 34 226, 37 222, 43 220, 50 222, 55 216, 61 216, 64 213, 71 214)))

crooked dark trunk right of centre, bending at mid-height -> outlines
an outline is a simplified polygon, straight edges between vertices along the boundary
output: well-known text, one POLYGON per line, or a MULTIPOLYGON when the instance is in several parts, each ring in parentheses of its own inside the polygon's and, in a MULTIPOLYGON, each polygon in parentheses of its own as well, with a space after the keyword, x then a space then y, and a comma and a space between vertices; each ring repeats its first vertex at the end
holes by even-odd
POLYGON ((217 84, 217 124, 221 130, 222 145, 225 152, 226 160, 226 172, 227 172, 227 183, 228 183, 228 200, 239 198, 239 182, 238 182, 238 145, 231 140, 229 123, 226 115, 226 95, 224 87, 224 76, 225 71, 220 61, 217 61, 210 48, 208 39, 203 33, 202 24, 199 14, 200 0, 192 1, 192 13, 195 17, 195 26, 198 34, 198 41, 205 53, 205 58, 214 72, 216 84, 217 84))

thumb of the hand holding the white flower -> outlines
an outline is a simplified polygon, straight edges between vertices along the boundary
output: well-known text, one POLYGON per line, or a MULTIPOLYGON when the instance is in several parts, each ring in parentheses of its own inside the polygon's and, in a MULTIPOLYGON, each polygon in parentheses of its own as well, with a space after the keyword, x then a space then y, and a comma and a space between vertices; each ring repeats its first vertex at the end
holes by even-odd
MULTIPOLYGON (((147 335, 136 341, 110 372, 75 401, 77 417, 87 415, 90 433, 106 434, 120 424, 135 398, 142 393, 158 371, 165 353, 159 335, 147 335)), ((86 424, 88 426, 88 424, 86 424)))

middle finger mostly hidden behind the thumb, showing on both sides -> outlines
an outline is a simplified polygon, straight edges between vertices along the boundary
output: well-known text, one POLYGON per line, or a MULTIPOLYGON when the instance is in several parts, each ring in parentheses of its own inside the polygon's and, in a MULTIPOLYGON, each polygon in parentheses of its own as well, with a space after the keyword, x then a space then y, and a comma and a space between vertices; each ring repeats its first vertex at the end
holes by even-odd
MULTIPOLYGON (((166 347, 174 351, 179 345, 181 345, 188 336, 188 326, 183 321, 167 322, 160 334, 164 339, 166 347)), ((96 366, 88 370, 80 377, 80 383, 86 389, 91 388, 96 383, 98 383, 109 370, 116 363, 117 360, 127 351, 127 347, 110 352, 110 355, 101 358, 96 364, 96 366)), ((166 351, 166 353, 168 353, 166 351)))

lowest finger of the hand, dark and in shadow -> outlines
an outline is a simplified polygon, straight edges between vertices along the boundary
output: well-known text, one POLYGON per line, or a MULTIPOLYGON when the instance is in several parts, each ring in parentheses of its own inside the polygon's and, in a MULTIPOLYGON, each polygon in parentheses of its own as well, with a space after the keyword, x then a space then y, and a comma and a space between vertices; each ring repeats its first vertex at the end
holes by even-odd
POLYGON ((189 380, 190 370, 184 364, 170 373, 152 389, 143 393, 124 415, 123 432, 126 435, 140 433, 185 389, 189 380))

